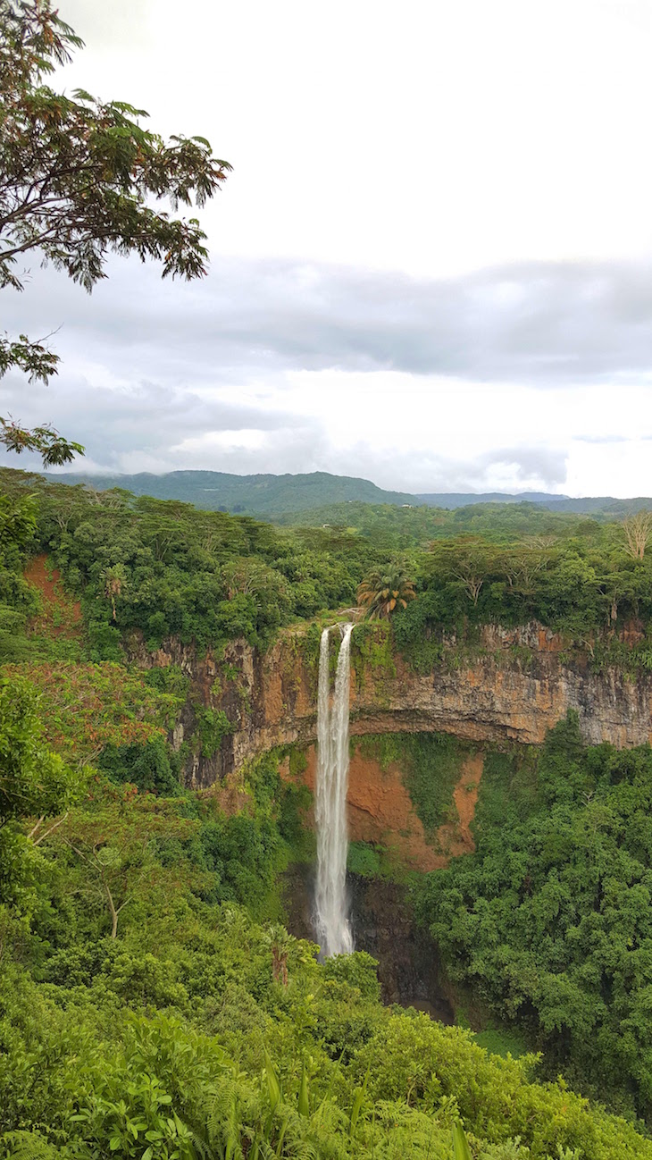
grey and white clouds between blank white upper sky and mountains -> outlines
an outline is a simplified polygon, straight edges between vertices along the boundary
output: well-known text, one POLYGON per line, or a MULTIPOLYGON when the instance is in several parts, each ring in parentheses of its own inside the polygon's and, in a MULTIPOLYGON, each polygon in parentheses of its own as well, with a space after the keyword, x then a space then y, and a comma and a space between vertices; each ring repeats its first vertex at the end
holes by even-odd
POLYGON ((616 429, 604 403, 615 384, 649 391, 644 264, 524 262, 425 280, 215 259, 200 284, 161 283, 136 262, 109 274, 89 297, 36 269, 2 299, 9 333, 60 326, 50 345, 63 360, 48 389, 7 376, 3 413, 51 420, 86 444, 87 467, 564 490, 573 441, 603 452, 652 434, 633 416, 616 429))

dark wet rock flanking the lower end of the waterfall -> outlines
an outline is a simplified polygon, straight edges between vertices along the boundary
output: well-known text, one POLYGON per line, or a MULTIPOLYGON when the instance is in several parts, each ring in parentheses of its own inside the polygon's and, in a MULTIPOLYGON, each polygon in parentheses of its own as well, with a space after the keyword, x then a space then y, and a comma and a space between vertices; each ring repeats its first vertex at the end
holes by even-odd
MULTIPOLYGON (((314 942, 314 868, 291 867, 283 879, 288 930, 314 942)), ((378 962, 383 1002, 415 1007, 442 1023, 454 1023, 439 981, 435 949, 413 923, 405 887, 350 873, 347 887, 355 949, 378 962)))

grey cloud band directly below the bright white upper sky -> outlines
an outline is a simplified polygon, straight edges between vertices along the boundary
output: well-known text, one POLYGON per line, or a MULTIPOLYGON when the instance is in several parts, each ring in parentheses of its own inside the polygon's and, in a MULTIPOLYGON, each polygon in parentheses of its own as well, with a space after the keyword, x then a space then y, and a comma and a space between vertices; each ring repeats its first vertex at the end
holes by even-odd
POLYGON ((147 347, 154 364, 224 372, 340 369, 555 383, 636 376, 652 362, 652 266, 523 262, 411 278, 289 260, 213 259, 200 285, 135 262, 84 297, 51 270, 3 295, 5 325, 60 322, 79 343, 147 347))

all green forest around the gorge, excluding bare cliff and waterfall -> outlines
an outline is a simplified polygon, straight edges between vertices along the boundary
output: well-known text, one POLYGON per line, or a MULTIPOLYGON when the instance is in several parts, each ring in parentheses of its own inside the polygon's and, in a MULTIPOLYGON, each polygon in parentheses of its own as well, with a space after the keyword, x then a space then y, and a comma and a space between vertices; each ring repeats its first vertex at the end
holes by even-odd
MULTIPOLYGON (((320 964, 287 933, 283 871, 314 854, 310 793, 280 776, 302 754, 186 788, 171 742, 188 674, 125 653, 133 635, 151 657, 196 641, 231 680, 225 641, 265 653, 399 568, 416 596, 393 647, 421 670, 444 637, 450 664, 480 624, 536 617, 589 664, 636 672, 652 653, 646 522, 490 506, 415 524, 405 509, 401 538, 385 508, 360 528, 280 528, 21 472, 1 484, 0 1154, 449 1160, 463 1123, 476 1160, 652 1157, 647 749, 586 749, 570 722, 541 755, 495 753, 477 851, 414 879, 459 1012, 543 1051, 513 1059, 495 1032, 492 1056, 384 1008, 364 955, 320 964)), ((195 719, 193 744, 215 752, 229 719, 195 719)))

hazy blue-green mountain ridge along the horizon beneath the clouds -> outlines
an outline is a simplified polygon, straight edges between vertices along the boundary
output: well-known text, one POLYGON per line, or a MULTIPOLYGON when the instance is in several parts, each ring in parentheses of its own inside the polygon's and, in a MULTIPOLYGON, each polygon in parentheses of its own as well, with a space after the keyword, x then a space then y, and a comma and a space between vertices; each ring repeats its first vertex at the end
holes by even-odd
POLYGON ((411 494, 390 492, 369 479, 333 476, 327 471, 304 474, 233 476, 222 471, 169 471, 161 476, 139 472, 133 476, 89 472, 46 473, 46 478, 64 484, 87 484, 97 491, 124 487, 135 495, 153 495, 164 500, 182 500, 208 510, 233 512, 256 516, 310 512, 334 503, 411 505, 419 507, 458 508, 470 503, 538 503, 555 512, 614 513, 622 515, 642 507, 652 508, 652 498, 615 499, 614 496, 552 495, 548 492, 435 492, 411 494))

